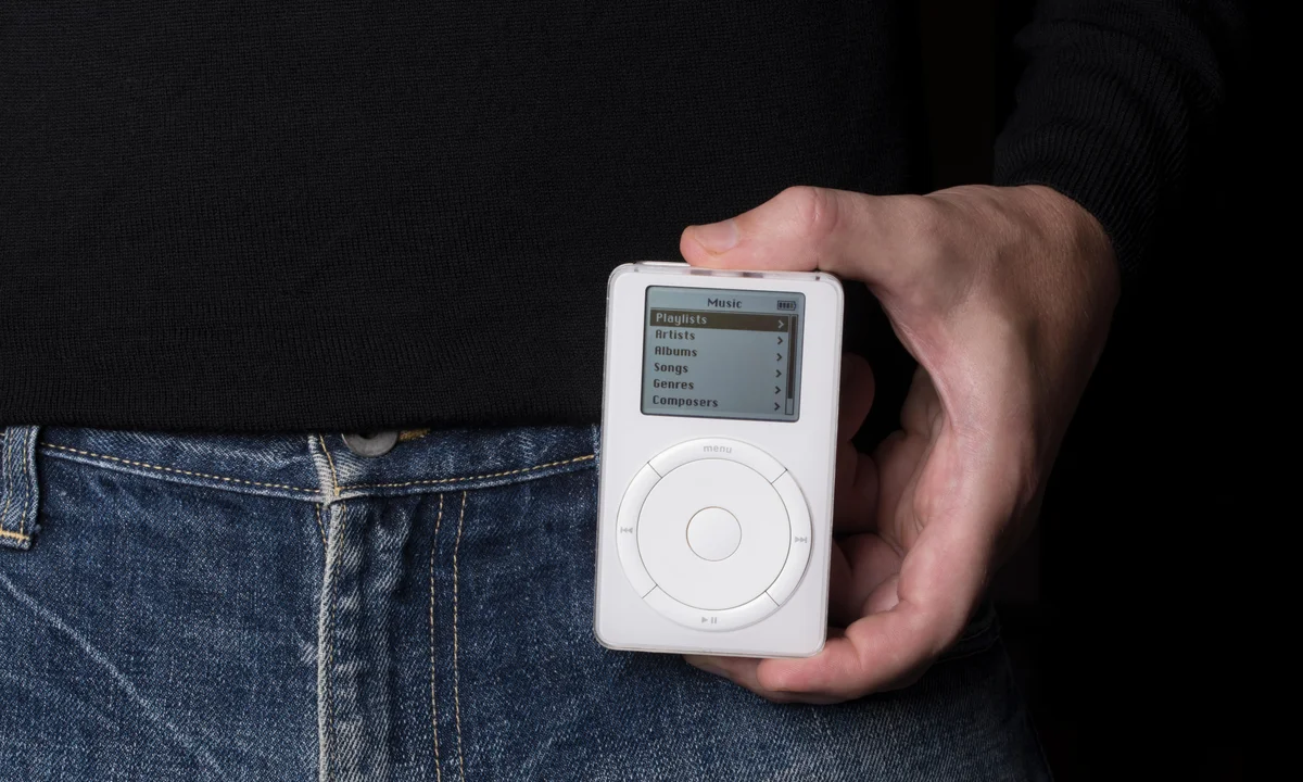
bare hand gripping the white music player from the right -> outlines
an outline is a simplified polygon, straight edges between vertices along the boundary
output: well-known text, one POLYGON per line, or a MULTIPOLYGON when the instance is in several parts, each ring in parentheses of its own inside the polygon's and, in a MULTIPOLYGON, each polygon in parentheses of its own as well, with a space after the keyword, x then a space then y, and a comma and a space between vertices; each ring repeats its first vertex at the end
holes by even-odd
POLYGON ((1119 295, 1100 224, 1041 186, 870 197, 791 188, 680 240, 692 265, 864 282, 919 362, 900 430, 851 437, 873 400, 847 356, 829 640, 807 659, 689 657, 775 701, 912 683, 954 644, 1035 523, 1119 295))

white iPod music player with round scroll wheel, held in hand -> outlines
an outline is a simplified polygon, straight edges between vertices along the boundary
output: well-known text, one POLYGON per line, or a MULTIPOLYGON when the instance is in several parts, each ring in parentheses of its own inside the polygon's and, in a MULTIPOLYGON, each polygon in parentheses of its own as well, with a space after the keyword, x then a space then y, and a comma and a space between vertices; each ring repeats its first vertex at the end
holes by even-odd
POLYGON ((618 267, 607 285, 594 633, 823 648, 842 358, 826 272, 618 267))

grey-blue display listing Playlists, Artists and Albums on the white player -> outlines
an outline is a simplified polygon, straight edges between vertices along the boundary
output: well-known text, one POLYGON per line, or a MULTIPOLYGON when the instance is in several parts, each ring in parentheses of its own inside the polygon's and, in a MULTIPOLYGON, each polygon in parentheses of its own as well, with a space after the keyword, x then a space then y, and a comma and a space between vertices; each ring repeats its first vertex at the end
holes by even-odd
POLYGON ((648 288, 642 413, 796 421, 804 293, 648 288))

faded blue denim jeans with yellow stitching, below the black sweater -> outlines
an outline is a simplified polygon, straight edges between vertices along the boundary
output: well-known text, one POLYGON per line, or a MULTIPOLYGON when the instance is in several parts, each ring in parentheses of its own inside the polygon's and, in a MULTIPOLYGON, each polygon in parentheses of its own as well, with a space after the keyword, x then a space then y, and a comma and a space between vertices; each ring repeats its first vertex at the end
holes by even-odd
POLYGON ((10 426, 0 779, 1040 779, 986 611, 921 682, 775 705, 593 637, 598 433, 10 426))

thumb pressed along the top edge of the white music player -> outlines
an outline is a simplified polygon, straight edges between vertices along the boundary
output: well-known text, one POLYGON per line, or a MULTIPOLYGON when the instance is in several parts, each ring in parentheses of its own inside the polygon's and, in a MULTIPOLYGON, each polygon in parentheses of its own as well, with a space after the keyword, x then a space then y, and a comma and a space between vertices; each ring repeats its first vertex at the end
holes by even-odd
POLYGON ((713 268, 812 271, 890 285, 902 268, 900 225, 926 214, 924 199, 826 188, 788 188, 735 218, 689 225, 679 239, 688 263, 713 268))

